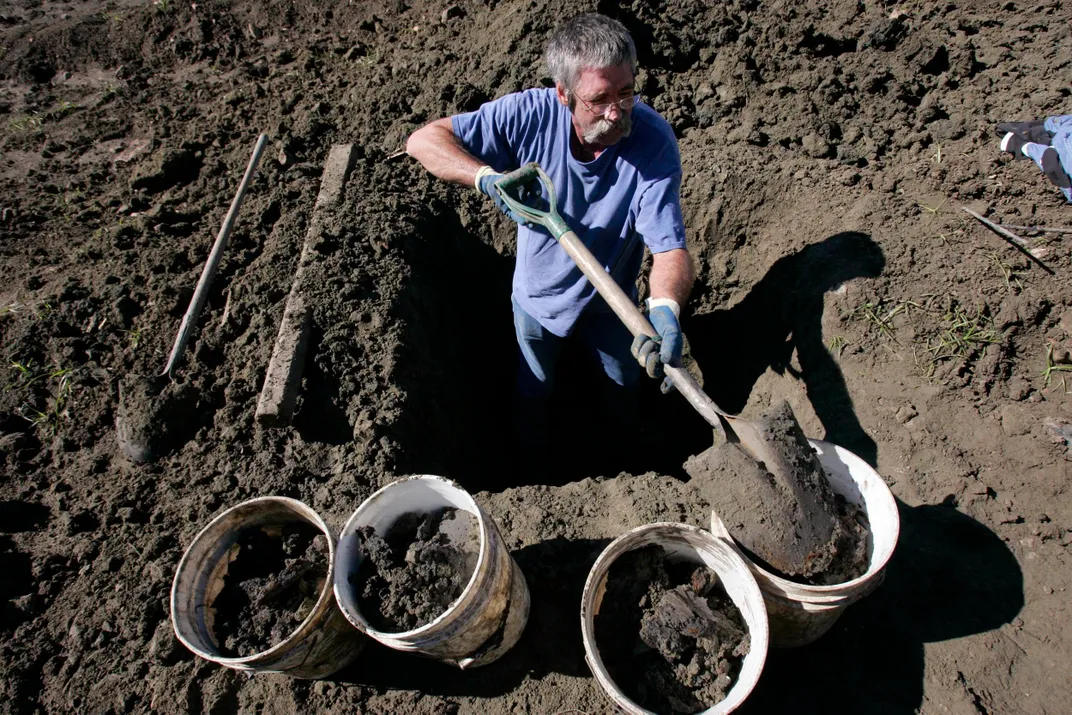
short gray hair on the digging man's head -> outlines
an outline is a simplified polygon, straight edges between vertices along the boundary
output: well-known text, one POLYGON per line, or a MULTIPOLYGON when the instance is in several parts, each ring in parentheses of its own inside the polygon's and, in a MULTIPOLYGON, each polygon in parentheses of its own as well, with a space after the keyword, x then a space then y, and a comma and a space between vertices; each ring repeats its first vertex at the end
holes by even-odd
POLYGON ((572 90, 582 70, 613 68, 628 62, 637 74, 637 47, 625 26, 605 15, 585 13, 567 20, 547 43, 551 77, 572 90))

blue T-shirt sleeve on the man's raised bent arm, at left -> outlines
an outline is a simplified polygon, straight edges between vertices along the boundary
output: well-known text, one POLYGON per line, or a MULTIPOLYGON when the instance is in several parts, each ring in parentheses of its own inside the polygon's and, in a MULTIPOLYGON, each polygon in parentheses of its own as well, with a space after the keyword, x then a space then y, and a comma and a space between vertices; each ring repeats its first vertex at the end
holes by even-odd
POLYGON ((517 147, 524 134, 523 93, 507 94, 476 111, 455 115, 450 126, 465 149, 496 172, 518 166, 517 147))

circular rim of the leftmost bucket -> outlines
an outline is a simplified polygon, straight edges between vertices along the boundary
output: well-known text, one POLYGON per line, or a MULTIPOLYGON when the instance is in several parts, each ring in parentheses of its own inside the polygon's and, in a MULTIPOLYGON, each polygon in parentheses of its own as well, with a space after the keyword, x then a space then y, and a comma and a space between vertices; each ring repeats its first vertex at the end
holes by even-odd
MULTIPOLYGON (((300 521, 300 519, 295 519, 295 521, 300 521)), ((289 651, 291 647, 296 642, 298 642, 302 637, 304 637, 306 631, 309 629, 309 627, 315 625, 316 621, 323 617, 325 607, 330 604, 330 599, 334 598, 334 593, 331 587, 332 583, 334 582, 334 550, 336 550, 334 536, 331 534, 330 526, 328 526, 327 522, 325 522, 324 519, 321 518, 321 516, 312 509, 312 507, 310 507, 304 502, 300 502, 296 498, 292 498, 289 496, 256 496, 251 500, 245 500, 244 502, 240 502, 227 509, 224 509, 208 524, 206 524, 204 528, 197 532, 197 535, 190 542, 190 546, 187 547, 187 550, 182 554, 182 558, 179 561, 179 565, 175 570, 175 578, 172 580, 172 594, 170 598, 168 599, 168 606, 170 607, 172 610, 172 630, 175 632, 176 638, 178 638, 183 645, 190 649, 195 655, 205 658, 206 660, 211 660, 212 662, 218 662, 221 666, 225 666, 236 670, 254 670, 256 669, 258 662, 260 662, 262 660, 271 660, 274 656, 289 651), (178 622, 175 617, 176 606, 179 596, 179 591, 178 591, 180 583, 179 577, 182 576, 184 570, 189 569, 188 561, 190 557, 192 557, 194 546, 196 546, 203 538, 207 538, 209 532, 214 526, 217 526, 217 524, 219 524, 222 520, 224 520, 228 515, 232 515, 237 510, 245 510, 255 507, 259 504, 268 504, 268 503, 283 504, 287 506, 288 508, 292 509, 292 511, 295 512, 296 516, 304 517, 309 523, 319 528, 321 533, 327 538, 328 569, 326 578, 324 580, 324 585, 321 586, 321 594, 316 598, 316 604, 309 611, 309 615, 307 615, 304 620, 302 620, 302 622, 298 624, 286 638, 284 638, 279 643, 276 643, 274 645, 265 651, 258 651, 251 655, 241 656, 237 658, 224 656, 219 651, 214 653, 205 651, 200 646, 192 643, 185 636, 183 636, 183 634, 179 631, 178 622)))

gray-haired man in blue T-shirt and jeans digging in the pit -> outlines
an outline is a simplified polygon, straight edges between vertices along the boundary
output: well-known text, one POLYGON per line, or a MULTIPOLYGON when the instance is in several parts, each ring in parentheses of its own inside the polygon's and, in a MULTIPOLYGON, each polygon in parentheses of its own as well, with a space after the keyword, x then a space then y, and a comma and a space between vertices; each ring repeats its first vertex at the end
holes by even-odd
POLYGON ((607 376, 608 399, 627 409, 641 370, 662 376, 681 358, 678 322, 693 285, 679 190, 681 159, 669 123, 640 101, 637 53, 616 20, 578 15, 547 46, 553 89, 530 89, 414 132, 406 151, 436 177, 491 198, 518 226, 511 301, 521 360, 521 437, 538 447, 567 338, 582 342, 607 376), (504 173, 537 162, 559 211, 634 298, 643 247, 653 254, 649 318, 656 340, 635 341, 581 270, 540 226, 498 197, 504 173), (631 354, 631 357, 630 357, 631 354))

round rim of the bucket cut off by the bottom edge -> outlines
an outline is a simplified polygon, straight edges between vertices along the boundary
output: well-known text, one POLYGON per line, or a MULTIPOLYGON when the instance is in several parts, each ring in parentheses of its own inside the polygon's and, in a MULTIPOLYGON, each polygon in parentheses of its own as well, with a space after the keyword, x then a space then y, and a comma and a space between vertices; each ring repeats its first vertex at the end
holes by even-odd
MULTIPOLYGON (((589 669, 592 670, 593 676, 596 679, 596 682, 599 683, 601 689, 605 691, 605 695, 609 696, 610 699, 614 701, 615 705, 620 707, 623 705, 623 703, 617 702, 617 699, 620 698, 621 700, 624 700, 625 703, 627 703, 629 706, 631 706, 635 713, 645 713, 649 715, 654 715, 651 714, 651 711, 641 707, 639 704, 634 702, 631 698, 627 697, 622 691, 621 687, 614 682, 614 679, 610 676, 610 673, 607 670, 607 666, 602 661, 602 656, 599 654, 598 644, 596 643, 596 637, 595 637, 596 613, 593 612, 593 605, 596 598, 595 596, 596 583, 594 582, 596 574, 602 571, 599 578, 600 579, 605 578, 606 575, 609 574, 610 567, 614 561, 621 558, 630 551, 636 551, 639 548, 647 546, 646 543, 638 542, 635 547, 630 547, 622 551, 621 553, 616 554, 613 553, 615 547, 619 547, 622 541, 638 539, 639 537, 645 536, 651 532, 665 532, 668 535, 687 534, 699 540, 705 547, 718 551, 720 554, 725 555, 731 563, 734 563, 739 567, 738 570, 740 571, 741 575, 742 585, 744 587, 744 591, 746 592, 745 598, 753 601, 755 609, 757 611, 755 619, 756 620, 755 627, 753 626, 753 624, 748 623, 747 619, 745 619, 745 625, 747 626, 748 637, 750 638, 749 654, 754 652, 754 649, 757 647, 760 649, 760 655, 758 656, 759 667, 754 677, 751 679, 750 683, 744 683, 743 681, 741 681, 739 676, 738 680, 733 683, 733 686, 726 694, 726 698, 715 703, 711 707, 699 711, 697 715, 708 715, 710 713, 716 713, 716 712, 717 713, 732 712, 748 699, 748 696, 751 695, 753 690, 756 688, 756 685, 759 683, 759 680, 763 674, 763 669, 766 665, 766 656, 770 651, 770 636, 771 636, 770 616, 768 615, 766 612, 766 600, 763 597, 763 593, 759 587, 759 583, 756 580, 755 574, 753 574, 748 562, 744 560, 733 547, 731 547, 730 545, 726 543, 718 537, 714 536, 710 532, 699 526, 693 526, 691 524, 683 524, 670 521, 657 521, 647 524, 642 524, 640 526, 629 530, 625 534, 622 534, 621 536, 615 538, 613 541, 608 543, 604 548, 604 550, 599 553, 599 556, 592 565, 592 568, 589 569, 589 576, 584 581, 584 590, 581 595, 581 640, 583 641, 584 644, 584 659, 589 665, 589 669), (733 694, 733 690, 735 690, 743 683, 744 683, 744 689, 740 701, 735 703, 730 703, 729 710, 726 710, 727 705, 724 705, 724 703, 729 703, 730 695, 733 694)), ((719 575, 719 578, 721 578, 721 575, 719 575)), ((604 589, 606 589, 606 584, 604 584, 604 589)), ((742 612, 742 617, 744 617, 744 610, 740 606, 738 606, 736 601, 733 599, 732 596, 730 596, 730 599, 733 600, 733 605, 742 612)))

